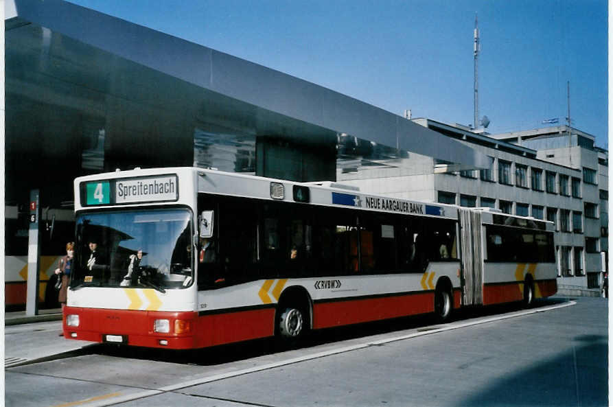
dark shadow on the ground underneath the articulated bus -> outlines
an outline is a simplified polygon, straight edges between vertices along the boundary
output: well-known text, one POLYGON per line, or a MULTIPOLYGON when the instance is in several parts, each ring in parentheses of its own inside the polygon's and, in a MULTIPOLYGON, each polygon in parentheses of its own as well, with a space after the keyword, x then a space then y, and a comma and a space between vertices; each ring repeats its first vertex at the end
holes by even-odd
MULTIPOLYGON (((539 307, 546 307, 548 305, 564 302, 568 301, 566 299, 542 299, 535 301, 533 308, 537 309, 539 307)), ((452 321, 470 321, 474 318, 516 312, 522 309, 521 303, 490 305, 488 307, 467 307, 454 312, 452 321)), ((311 332, 307 338, 304 338, 294 345, 287 345, 275 338, 248 340, 246 342, 232 343, 229 345, 184 351, 100 344, 88 347, 86 353, 114 356, 117 358, 214 366, 266 356, 281 351, 305 349, 319 345, 332 344, 334 342, 343 342, 345 340, 389 334, 390 332, 401 332, 408 329, 426 329, 434 326, 440 327, 443 325, 437 325, 435 318, 430 314, 426 314, 321 329, 311 332)))

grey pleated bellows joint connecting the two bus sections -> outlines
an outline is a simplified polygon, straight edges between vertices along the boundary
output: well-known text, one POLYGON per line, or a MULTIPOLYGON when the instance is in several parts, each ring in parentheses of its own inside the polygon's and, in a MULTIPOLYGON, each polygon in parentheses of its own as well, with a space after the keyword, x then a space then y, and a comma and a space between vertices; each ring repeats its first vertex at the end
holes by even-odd
POLYGON ((461 236, 462 304, 483 304, 483 253, 481 212, 459 209, 461 236))

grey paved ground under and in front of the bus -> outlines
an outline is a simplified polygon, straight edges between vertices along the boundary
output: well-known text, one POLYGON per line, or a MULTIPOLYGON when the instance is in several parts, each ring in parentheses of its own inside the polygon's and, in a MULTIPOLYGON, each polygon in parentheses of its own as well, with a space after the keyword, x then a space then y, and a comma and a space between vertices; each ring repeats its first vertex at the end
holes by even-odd
MULTIPOLYGON (((292 351, 279 351, 270 341, 190 353, 88 347, 7 369, 5 402, 20 407, 608 405, 608 301, 540 305, 570 306, 524 316, 513 309, 493 310, 503 315, 465 314, 461 321, 437 326, 404 320, 336 329, 292 351), (508 318, 494 321, 498 316, 508 318)), ((7 349, 13 346, 9 338, 20 342, 23 335, 71 342, 51 337, 53 325, 9 332, 16 328, 7 327, 7 349)))

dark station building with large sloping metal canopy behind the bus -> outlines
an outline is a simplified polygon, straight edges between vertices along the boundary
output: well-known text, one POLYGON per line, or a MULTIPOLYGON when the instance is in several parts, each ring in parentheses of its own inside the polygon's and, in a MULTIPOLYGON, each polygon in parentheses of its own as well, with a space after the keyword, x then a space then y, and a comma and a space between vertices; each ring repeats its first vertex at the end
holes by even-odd
MULTIPOLYGON (((5 305, 39 297, 73 240, 73 179, 192 166, 292 181, 428 156, 485 168, 460 141, 291 75, 61 0, 5 7, 5 305)), ((56 304, 55 304, 56 305, 56 304)))

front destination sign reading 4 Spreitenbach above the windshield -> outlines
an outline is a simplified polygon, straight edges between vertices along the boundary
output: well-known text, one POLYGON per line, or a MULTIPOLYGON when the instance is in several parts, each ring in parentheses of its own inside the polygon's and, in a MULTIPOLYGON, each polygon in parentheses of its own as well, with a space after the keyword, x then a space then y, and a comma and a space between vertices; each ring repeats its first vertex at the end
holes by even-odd
POLYGON ((89 181, 81 184, 83 206, 167 202, 178 199, 177 176, 143 176, 89 181))

